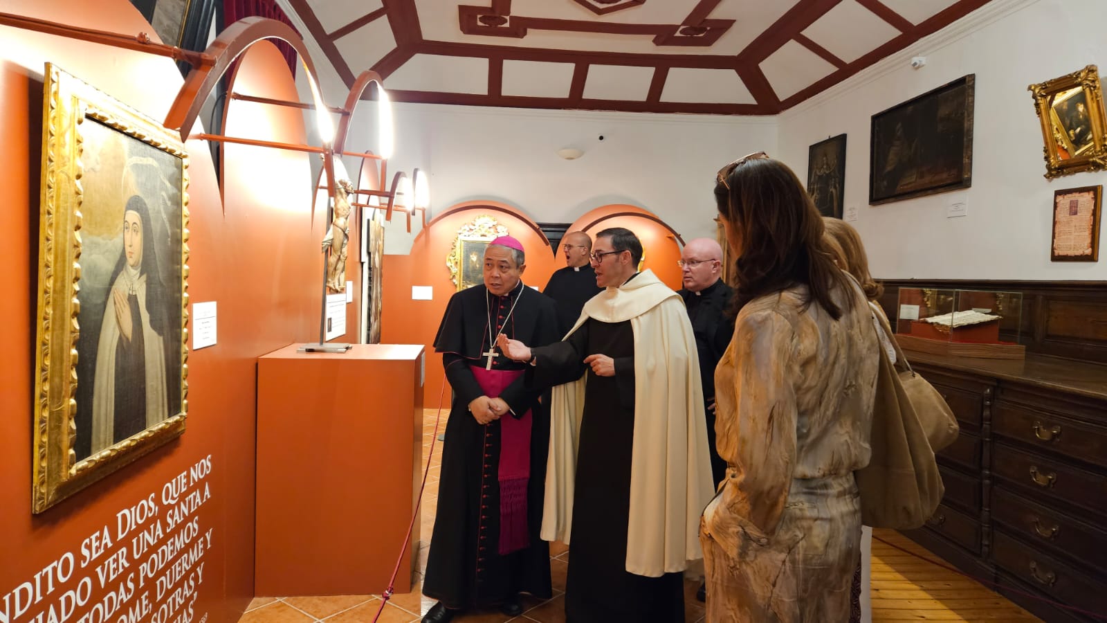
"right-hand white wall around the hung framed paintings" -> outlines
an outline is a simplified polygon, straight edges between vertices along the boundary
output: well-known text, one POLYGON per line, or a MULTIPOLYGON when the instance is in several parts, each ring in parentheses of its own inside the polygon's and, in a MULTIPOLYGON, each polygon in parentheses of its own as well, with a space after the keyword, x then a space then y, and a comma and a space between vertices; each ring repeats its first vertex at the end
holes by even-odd
POLYGON ((993 0, 786 111, 780 157, 804 177, 808 145, 847 134, 846 206, 858 206, 852 224, 879 277, 1107 279, 1107 258, 1049 261, 1054 191, 1104 184, 1107 174, 1043 176, 1042 130, 1026 90, 1087 64, 1107 71, 1105 21, 1104 0, 993 0), (914 55, 927 65, 911 69, 914 55), (871 115, 969 73, 976 75, 972 187, 869 206, 871 115), (954 200, 968 202, 968 216, 946 217, 954 200))

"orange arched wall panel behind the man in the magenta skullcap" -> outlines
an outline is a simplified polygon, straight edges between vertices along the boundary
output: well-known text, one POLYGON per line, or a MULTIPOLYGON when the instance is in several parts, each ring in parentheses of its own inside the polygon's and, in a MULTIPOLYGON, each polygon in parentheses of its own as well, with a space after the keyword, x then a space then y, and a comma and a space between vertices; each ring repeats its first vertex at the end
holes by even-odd
MULTIPOLYGON (((434 351, 434 336, 446 312, 446 303, 457 292, 449 279, 446 256, 453 248, 457 229, 480 215, 489 215, 507 227, 508 233, 523 243, 527 253, 527 268, 523 282, 546 287, 554 270, 565 266, 565 261, 554 257, 546 236, 530 228, 531 223, 523 212, 496 202, 466 202, 451 207, 436 217, 417 236, 410 255, 385 255, 383 263, 383 309, 381 315, 382 344, 422 344, 426 347, 426 384, 423 406, 431 409, 442 406, 449 409, 449 388, 443 391, 442 355, 434 351), (510 211, 506 214, 482 206, 495 205, 510 211), (432 286, 432 300, 412 300, 412 286, 432 286)), ((393 216, 393 226, 403 215, 393 216)), ((385 234, 386 235, 386 234, 385 234)))

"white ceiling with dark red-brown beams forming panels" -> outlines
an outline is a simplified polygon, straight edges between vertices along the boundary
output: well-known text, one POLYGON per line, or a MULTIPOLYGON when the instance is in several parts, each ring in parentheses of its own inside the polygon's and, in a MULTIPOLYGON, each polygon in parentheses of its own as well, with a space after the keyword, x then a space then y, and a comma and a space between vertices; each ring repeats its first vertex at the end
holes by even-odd
POLYGON ((989 0, 288 0, 393 100, 774 114, 989 0))

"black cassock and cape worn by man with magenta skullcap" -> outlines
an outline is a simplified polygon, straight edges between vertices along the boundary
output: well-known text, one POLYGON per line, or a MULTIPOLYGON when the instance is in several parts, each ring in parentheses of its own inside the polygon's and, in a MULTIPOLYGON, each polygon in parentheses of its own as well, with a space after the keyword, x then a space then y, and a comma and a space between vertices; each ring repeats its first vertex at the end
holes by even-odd
MULTIPOLYGON (((492 372, 503 379, 501 391, 487 391, 489 349, 504 335, 528 345, 556 341, 557 307, 546 295, 521 282, 506 296, 496 296, 484 284, 455 294, 446 306, 434 347, 442 353, 454 401, 446 423, 438 483, 438 510, 427 558, 423 594, 448 607, 464 609, 504 603, 519 592, 550 598, 549 544, 541 540, 542 494, 549 450, 549 399, 524 386, 526 364, 511 361, 496 350, 492 372), (489 330, 490 329, 490 330, 489 330), (518 375, 514 380, 510 376, 518 375), (503 398, 511 411, 482 426, 468 405, 475 398, 503 398), (529 477, 525 489, 511 492, 500 473, 501 456, 518 456, 503 438, 530 411, 529 477), (516 421, 507 422, 508 418, 516 421), (525 492, 525 498, 523 493, 525 492), (525 531, 510 524, 510 508, 525 501, 525 531), (506 545, 510 541, 511 545, 506 545), (521 549, 519 549, 521 548, 521 549), (510 553, 500 554, 501 551, 510 553)), ((547 394, 548 396, 548 394, 547 394)), ((516 436, 516 437, 513 437, 516 436)), ((509 459, 508 459, 509 460, 509 459)), ((524 468, 525 469, 525 468, 524 468)), ((518 482, 518 480, 516 480, 518 482)), ((518 518, 517 518, 518 519, 518 518)), ((524 525, 517 524, 519 528, 524 525)))

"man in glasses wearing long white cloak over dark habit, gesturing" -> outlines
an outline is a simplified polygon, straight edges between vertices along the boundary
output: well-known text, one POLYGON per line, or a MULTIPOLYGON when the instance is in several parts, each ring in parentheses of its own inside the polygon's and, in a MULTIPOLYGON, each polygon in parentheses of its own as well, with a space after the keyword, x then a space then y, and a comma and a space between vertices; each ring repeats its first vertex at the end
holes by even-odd
POLYGON ((629 229, 597 234, 606 287, 560 343, 529 348, 528 384, 552 392, 542 539, 570 543, 566 620, 684 621, 682 572, 702 558, 712 498, 695 337, 681 297, 629 229), (571 537, 571 542, 570 542, 571 537))

